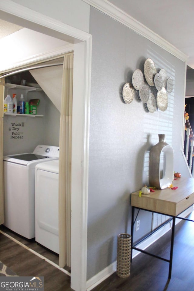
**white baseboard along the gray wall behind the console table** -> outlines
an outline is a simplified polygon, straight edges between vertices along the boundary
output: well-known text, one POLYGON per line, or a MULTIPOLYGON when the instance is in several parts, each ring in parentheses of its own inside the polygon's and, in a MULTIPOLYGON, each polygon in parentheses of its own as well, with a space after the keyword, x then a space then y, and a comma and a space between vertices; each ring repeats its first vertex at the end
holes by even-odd
MULTIPOLYGON (((185 218, 189 213, 191 213, 193 210, 193 206, 190 206, 188 209, 183 211, 180 214, 180 217, 185 218)), ((179 223, 182 219, 176 218, 175 224, 179 223)), ((172 229, 172 221, 169 221, 166 223, 162 228, 160 228, 158 231, 154 232, 151 236, 149 236, 147 239, 142 241, 137 245, 139 249, 146 249, 148 248, 152 243, 154 243, 157 239, 165 235, 166 232, 168 232, 170 229, 172 229)), ((139 255, 140 252, 133 250, 133 256, 132 258, 135 258, 137 255, 139 255)), ((92 290, 95 286, 99 285, 102 281, 104 281, 106 278, 111 276, 114 272, 116 272, 116 261, 113 262, 111 265, 103 269, 101 272, 93 276, 91 279, 89 279, 86 283, 87 291, 92 290)))

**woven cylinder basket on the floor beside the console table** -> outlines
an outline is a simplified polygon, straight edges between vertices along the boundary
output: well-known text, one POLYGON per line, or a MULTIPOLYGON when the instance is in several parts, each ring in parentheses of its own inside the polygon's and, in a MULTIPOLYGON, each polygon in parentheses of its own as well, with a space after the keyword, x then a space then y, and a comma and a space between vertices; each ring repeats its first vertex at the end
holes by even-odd
POLYGON ((131 236, 127 233, 121 233, 117 236, 117 263, 116 273, 121 278, 127 278, 130 275, 131 267, 131 236))

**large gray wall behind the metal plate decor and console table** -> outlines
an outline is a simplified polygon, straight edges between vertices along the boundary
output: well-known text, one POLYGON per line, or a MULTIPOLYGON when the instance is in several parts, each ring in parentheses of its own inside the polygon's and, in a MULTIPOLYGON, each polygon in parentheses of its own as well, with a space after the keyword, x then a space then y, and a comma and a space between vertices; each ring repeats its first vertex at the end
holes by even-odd
MULTIPOLYGON (((92 83, 89 144, 87 279, 116 260, 117 235, 130 233, 130 193, 148 184, 149 149, 166 133, 176 171, 189 176, 181 154, 185 64, 146 38, 91 8, 92 83), (175 81, 165 112, 149 113, 121 91, 147 58, 175 81)), ((150 231, 151 214, 140 212, 135 240, 150 231)))

